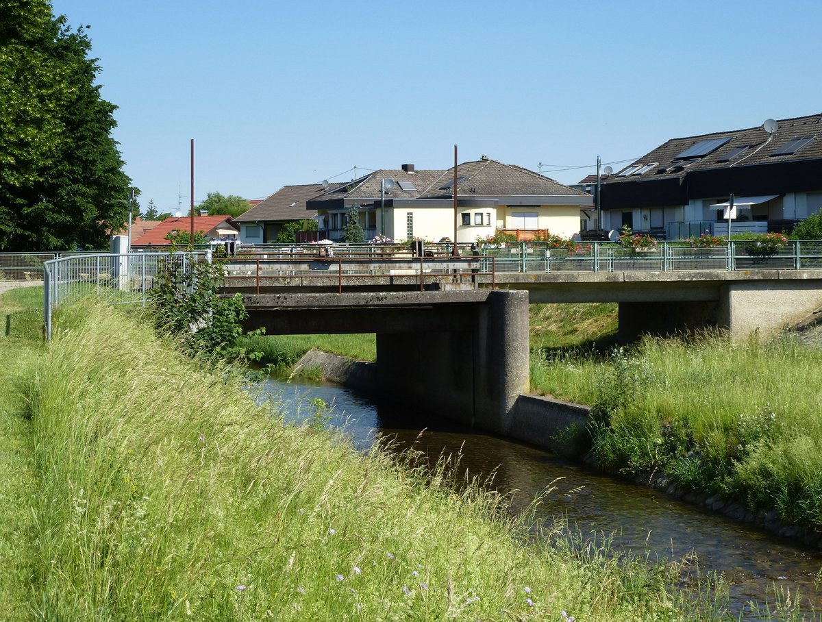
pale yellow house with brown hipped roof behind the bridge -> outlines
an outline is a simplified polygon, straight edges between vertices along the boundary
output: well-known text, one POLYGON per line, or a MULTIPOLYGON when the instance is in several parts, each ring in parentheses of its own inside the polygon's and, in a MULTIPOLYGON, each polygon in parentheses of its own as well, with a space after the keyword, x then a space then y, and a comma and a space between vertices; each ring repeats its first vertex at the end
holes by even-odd
POLYGON ((476 242, 506 231, 550 231, 571 237, 580 231, 580 209, 592 197, 525 168, 483 156, 456 171, 379 170, 307 203, 328 237, 342 239, 352 207, 367 239, 476 242), (455 183, 456 182, 456 183, 455 183), (456 186, 456 208, 454 187, 456 186))

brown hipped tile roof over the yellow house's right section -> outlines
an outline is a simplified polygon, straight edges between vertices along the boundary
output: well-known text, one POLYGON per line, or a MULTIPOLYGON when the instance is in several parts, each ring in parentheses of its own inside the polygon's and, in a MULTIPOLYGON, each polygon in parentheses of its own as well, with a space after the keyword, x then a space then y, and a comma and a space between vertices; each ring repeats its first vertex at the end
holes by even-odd
MULTIPOLYGON (((477 196, 585 196, 584 192, 563 186, 550 177, 543 177, 527 168, 513 164, 502 164, 492 159, 464 162, 457 167, 459 181, 458 195, 477 196)), ((450 168, 437 178, 423 192, 422 198, 453 196, 447 184, 454 181, 454 168, 450 168)))

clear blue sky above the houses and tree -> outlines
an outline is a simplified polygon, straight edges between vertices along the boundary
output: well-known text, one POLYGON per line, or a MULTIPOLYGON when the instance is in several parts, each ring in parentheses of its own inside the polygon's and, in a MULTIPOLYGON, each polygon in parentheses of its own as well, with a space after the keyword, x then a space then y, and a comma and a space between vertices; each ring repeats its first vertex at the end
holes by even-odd
POLYGON ((192 138, 199 202, 350 179, 355 165, 448 168, 455 144, 461 162, 543 163, 573 183, 597 155, 822 113, 818 0, 53 7, 91 26, 126 172, 162 211, 178 191, 189 205, 192 138))

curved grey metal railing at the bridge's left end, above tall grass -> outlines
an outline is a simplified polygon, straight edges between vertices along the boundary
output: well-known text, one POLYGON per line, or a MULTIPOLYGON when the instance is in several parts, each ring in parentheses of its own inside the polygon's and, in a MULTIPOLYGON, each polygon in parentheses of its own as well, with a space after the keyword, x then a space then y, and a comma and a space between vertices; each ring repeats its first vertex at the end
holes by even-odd
POLYGON ((188 262, 204 256, 186 252, 90 253, 45 261, 42 274, 46 339, 51 339, 53 311, 58 306, 89 294, 104 296, 113 304, 145 304, 157 275, 169 265, 185 270, 188 262))

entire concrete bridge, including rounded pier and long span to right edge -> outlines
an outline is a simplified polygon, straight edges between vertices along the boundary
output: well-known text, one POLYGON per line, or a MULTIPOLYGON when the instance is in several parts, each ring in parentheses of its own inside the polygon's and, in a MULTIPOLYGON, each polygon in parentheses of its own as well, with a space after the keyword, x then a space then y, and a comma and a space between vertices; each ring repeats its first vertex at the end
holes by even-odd
POLYGON ((387 272, 327 265, 332 274, 321 279, 280 265, 284 274, 268 280, 258 265, 256 274, 233 274, 226 293, 243 293, 247 329, 376 334, 383 398, 503 435, 529 388, 531 303, 617 302, 623 342, 706 328, 744 339, 822 307, 822 270, 498 273, 457 259, 395 263, 387 272))

